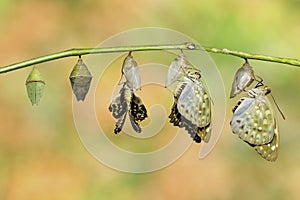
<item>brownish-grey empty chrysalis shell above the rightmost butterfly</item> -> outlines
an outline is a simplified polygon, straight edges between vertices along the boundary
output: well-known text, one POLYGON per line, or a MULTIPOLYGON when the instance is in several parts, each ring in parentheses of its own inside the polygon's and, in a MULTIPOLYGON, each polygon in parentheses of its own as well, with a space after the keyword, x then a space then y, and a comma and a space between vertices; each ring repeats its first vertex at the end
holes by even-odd
POLYGON ((234 75, 230 98, 235 97, 239 93, 241 93, 246 87, 251 85, 251 83, 255 80, 254 71, 252 67, 249 65, 248 61, 243 64, 241 68, 234 75))

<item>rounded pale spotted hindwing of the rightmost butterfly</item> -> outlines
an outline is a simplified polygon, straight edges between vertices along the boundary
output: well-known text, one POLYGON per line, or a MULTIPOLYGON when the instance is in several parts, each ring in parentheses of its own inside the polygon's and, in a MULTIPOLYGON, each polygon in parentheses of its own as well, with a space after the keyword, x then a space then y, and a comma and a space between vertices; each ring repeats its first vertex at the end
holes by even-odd
POLYGON ((264 145, 274 138, 275 118, 266 96, 245 98, 234 110, 232 131, 250 145, 264 145))

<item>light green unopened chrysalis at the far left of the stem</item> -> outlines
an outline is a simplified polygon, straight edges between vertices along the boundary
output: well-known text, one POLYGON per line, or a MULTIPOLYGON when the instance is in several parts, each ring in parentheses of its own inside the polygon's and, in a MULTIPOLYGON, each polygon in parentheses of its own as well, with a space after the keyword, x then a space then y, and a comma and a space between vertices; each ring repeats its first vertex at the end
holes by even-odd
POLYGON ((31 104, 33 106, 38 105, 44 93, 45 82, 37 68, 34 67, 32 69, 25 85, 31 104))

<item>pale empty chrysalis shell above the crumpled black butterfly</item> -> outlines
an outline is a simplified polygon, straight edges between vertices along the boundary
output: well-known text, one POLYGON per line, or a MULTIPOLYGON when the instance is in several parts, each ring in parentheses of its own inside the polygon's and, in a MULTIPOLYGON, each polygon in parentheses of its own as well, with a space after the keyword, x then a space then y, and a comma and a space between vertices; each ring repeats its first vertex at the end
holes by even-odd
POLYGON ((141 77, 137 62, 133 59, 131 51, 125 58, 122 65, 122 74, 125 75, 127 85, 132 90, 141 88, 141 77))

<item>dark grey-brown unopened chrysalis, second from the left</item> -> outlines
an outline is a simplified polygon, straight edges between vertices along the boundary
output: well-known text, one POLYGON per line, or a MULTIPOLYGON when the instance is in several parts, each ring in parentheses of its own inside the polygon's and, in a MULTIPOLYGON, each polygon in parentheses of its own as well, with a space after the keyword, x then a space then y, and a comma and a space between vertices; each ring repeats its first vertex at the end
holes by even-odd
POLYGON ((77 101, 84 101, 90 89, 92 78, 92 74, 88 70, 87 66, 84 64, 82 59, 79 58, 70 75, 72 90, 77 101))

